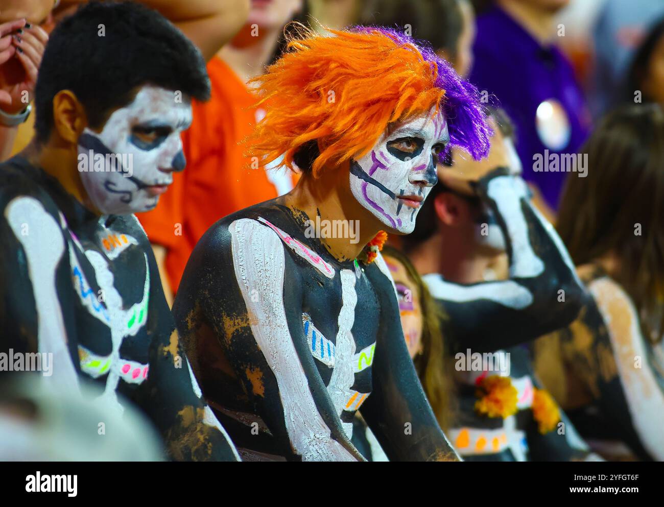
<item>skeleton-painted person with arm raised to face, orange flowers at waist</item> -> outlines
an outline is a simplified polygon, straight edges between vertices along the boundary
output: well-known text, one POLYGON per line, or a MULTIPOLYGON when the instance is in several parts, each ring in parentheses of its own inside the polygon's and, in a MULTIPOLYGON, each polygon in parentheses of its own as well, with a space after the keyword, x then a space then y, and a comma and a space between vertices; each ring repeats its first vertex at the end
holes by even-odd
POLYGON ((404 242, 444 310, 445 345, 456 359, 459 409, 449 435, 463 459, 471 461, 596 459, 557 407, 556 421, 562 425, 553 429, 540 432, 533 417, 536 397, 546 395, 529 350, 521 344, 572 321, 584 292, 552 226, 530 202, 509 137, 509 119, 501 111, 493 116, 498 119, 491 120, 489 157, 475 162, 455 150, 452 167, 439 171, 441 186, 424 210, 415 240, 404 242), (479 281, 489 278, 491 257, 505 250, 508 279, 479 281), (468 370, 472 354, 483 352, 509 362, 484 360, 479 370, 474 363, 468 370), (494 371, 496 364, 500 368, 494 371), (478 413, 477 391, 491 376, 509 378, 516 390, 514 413, 478 413), (564 433, 556 431, 560 428, 564 433))

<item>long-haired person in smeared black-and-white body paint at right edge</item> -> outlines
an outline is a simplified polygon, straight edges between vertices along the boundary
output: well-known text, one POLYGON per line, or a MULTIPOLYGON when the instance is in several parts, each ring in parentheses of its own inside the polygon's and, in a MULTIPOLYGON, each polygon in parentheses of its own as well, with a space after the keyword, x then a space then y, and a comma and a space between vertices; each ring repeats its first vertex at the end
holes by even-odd
POLYGON ((591 297, 535 344, 542 381, 611 461, 664 461, 663 146, 661 104, 596 125, 588 177, 568 181, 556 225, 591 297))

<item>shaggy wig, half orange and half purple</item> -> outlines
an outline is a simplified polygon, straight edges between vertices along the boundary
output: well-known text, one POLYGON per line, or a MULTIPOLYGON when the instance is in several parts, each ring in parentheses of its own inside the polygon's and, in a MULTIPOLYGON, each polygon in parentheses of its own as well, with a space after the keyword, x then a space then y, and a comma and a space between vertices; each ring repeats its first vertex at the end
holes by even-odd
MULTIPOLYGON (((392 29, 355 27, 323 36, 303 30, 284 55, 256 78, 267 110, 249 140, 250 155, 268 165, 317 144, 311 167, 361 157, 386 129, 442 108, 450 145, 485 157, 491 133, 476 88, 426 46, 392 29)), ((441 157, 443 154, 441 155, 441 157)))

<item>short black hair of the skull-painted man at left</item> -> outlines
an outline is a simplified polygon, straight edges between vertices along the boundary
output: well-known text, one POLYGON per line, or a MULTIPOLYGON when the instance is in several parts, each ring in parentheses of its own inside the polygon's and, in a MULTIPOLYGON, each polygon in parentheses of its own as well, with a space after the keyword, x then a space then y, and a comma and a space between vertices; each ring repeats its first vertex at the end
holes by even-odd
POLYGON ((50 136, 53 98, 61 90, 73 92, 98 127, 146 84, 201 101, 210 96, 203 56, 157 11, 133 2, 82 5, 46 44, 35 89, 37 139, 50 136))

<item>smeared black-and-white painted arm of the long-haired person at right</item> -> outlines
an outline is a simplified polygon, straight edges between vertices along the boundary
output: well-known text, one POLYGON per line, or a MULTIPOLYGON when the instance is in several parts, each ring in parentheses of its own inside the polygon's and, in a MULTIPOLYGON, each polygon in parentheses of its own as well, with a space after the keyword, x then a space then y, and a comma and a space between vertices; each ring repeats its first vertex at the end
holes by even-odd
MULTIPOLYGON (((657 394, 653 371, 647 358, 641 355, 645 342, 640 341, 639 333, 633 334, 627 328, 623 334, 625 328, 619 329, 627 323, 631 327, 630 321, 635 317, 631 303, 613 281, 593 275, 591 265, 578 271, 596 296, 586 301, 578 319, 570 326, 537 340, 535 368, 562 407, 570 413, 576 412, 577 425, 585 428, 588 438, 595 440, 594 447, 604 457, 611 461, 620 457, 618 461, 622 461, 624 451, 615 445, 620 442, 629 447, 629 461, 636 457, 653 459, 653 444, 646 446, 646 441, 656 441, 658 432, 648 431, 636 421, 647 412, 657 412, 658 397, 660 414, 664 405, 661 388, 657 394), (596 285, 598 282, 600 285, 596 285), (600 301, 605 299, 614 302, 600 311, 600 301), (641 350, 637 352, 635 348, 641 350), (625 355, 619 366, 621 349, 625 355), (637 368, 636 356, 641 357, 642 368, 637 368)), ((646 417, 645 425, 650 417, 653 416, 646 417)))

